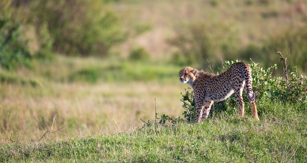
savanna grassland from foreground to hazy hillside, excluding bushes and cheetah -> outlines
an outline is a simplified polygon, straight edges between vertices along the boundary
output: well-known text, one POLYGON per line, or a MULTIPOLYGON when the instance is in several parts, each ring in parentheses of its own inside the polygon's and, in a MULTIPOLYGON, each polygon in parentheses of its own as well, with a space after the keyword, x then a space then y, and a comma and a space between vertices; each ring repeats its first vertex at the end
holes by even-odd
MULTIPOLYGON (((241 119, 236 106, 226 105, 203 123, 154 123, 155 110, 157 117, 183 117, 180 93, 189 86, 178 79, 182 62, 172 60, 179 47, 169 44, 181 27, 206 22, 212 47, 263 46, 271 35, 306 26, 306 2, 119 0, 107 7, 127 29, 144 32, 105 58, 55 55, 0 69, 0 162, 307 162, 306 105, 258 98, 260 122, 245 103, 241 119), (131 56, 138 48, 145 59, 131 56)), ((223 71, 221 58, 280 63, 275 49, 244 57, 226 51, 209 52, 215 73, 223 71), (261 60, 267 55, 275 59, 261 60)), ((211 71, 203 60, 189 66, 211 71)), ((282 74, 282 66, 275 72, 282 74)))

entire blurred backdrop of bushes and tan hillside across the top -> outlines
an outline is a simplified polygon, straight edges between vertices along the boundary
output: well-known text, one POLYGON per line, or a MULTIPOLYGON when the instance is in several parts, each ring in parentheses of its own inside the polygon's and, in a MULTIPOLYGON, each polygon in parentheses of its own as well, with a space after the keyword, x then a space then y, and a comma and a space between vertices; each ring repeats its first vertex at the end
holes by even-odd
POLYGON ((302 0, 2 0, 0 66, 31 67, 29 59, 63 54, 168 59, 202 68, 207 60, 218 65, 221 59, 252 58, 269 67, 280 64, 275 57, 280 51, 291 58, 291 67, 306 72, 306 5, 302 0), (277 24, 285 21, 289 25, 277 24))

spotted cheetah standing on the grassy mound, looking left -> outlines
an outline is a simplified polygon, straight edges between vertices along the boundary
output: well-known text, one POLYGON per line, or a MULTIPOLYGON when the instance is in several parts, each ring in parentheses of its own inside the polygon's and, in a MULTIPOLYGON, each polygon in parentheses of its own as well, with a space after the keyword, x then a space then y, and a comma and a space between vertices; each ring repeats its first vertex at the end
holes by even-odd
POLYGON ((244 62, 233 63, 220 75, 208 74, 203 70, 185 67, 179 72, 182 83, 188 83, 194 90, 196 104, 195 122, 204 121, 214 101, 223 101, 235 93, 239 116, 244 116, 243 89, 251 102, 252 116, 259 120, 256 109, 256 96, 252 89, 252 70, 244 62))

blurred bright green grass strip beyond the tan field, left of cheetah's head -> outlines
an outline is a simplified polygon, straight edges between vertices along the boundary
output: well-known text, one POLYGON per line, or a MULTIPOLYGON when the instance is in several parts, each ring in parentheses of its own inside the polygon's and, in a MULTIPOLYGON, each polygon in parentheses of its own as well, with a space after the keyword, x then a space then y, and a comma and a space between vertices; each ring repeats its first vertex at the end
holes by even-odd
MULTIPOLYGON (((32 69, 24 73, 42 80, 71 83, 161 81, 173 82, 182 68, 167 61, 130 61, 112 58, 78 58, 56 56, 54 61, 32 61, 32 69)), ((2 72, 5 73, 5 72, 2 72)), ((1 78, 2 80, 2 78, 1 78)), ((9 79, 8 79, 9 80, 9 79)))

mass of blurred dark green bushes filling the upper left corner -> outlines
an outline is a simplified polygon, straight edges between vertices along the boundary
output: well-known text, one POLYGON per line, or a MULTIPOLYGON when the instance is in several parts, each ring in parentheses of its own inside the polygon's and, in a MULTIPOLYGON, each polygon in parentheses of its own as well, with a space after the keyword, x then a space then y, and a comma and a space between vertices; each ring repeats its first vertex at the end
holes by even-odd
POLYGON ((1 67, 12 69, 25 65, 27 59, 52 58, 54 53, 107 56, 128 37, 116 14, 104 7, 107 2, 2 0, 1 67))

